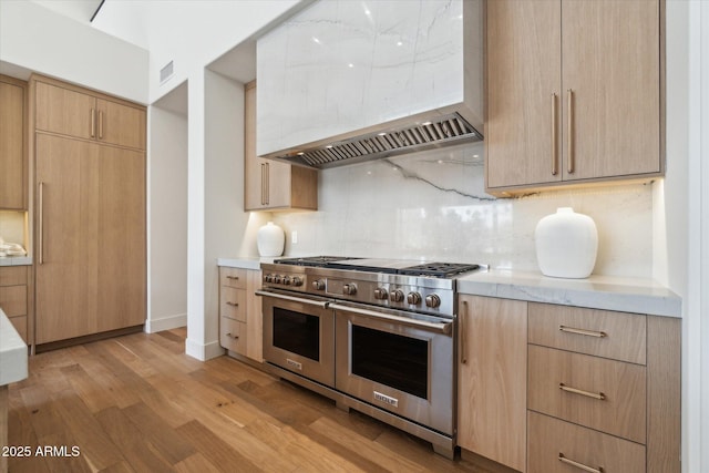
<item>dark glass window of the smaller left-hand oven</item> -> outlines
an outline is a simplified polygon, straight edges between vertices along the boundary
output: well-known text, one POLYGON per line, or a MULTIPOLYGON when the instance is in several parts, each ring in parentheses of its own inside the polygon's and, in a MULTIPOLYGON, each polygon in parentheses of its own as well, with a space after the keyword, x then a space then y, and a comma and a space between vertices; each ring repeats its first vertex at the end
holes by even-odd
POLYGON ((274 307, 274 346, 320 361, 320 318, 274 307))

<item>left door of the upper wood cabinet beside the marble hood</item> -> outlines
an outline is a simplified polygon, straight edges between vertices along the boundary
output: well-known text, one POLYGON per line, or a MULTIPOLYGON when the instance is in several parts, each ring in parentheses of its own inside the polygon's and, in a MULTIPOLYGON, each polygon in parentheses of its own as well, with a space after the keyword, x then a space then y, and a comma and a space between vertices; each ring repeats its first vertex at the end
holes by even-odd
POLYGON ((559 181, 561 2, 487 2, 486 185, 559 181))

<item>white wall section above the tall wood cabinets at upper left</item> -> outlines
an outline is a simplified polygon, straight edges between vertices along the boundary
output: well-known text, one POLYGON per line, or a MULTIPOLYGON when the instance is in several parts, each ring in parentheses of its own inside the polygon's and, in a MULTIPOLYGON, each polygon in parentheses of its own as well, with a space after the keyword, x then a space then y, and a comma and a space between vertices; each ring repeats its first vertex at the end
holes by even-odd
POLYGON ((148 100, 146 50, 31 1, 0 1, 0 61, 3 73, 19 66, 138 103, 148 100))

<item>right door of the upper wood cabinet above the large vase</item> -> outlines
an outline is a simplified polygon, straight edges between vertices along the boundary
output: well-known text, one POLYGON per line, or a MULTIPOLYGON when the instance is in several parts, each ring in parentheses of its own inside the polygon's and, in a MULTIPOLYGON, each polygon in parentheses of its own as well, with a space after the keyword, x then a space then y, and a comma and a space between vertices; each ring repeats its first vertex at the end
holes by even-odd
POLYGON ((659 1, 564 1, 562 24, 564 179, 659 173, 659 1))

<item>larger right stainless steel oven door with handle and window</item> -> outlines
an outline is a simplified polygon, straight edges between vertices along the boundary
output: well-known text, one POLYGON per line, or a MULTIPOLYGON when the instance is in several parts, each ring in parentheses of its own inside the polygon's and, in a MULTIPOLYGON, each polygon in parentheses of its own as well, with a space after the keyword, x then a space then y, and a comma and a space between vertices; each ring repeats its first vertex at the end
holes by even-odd
POLYGON ((332 304, 337 389, 453 435, 453 320, 332 304))

